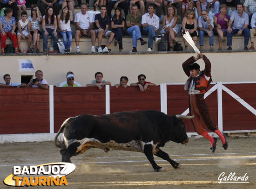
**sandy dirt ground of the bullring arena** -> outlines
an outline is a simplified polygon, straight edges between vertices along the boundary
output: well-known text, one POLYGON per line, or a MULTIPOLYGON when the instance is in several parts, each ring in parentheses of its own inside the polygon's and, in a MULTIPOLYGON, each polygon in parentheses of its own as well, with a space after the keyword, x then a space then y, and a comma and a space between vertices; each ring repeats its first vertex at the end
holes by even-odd
MULTIPOLYGON (((182 166, 175 170, 167 161, 155 157, 164 172, 155 172, 144 154, 139 152, 105 153, 90 149, 71 158, 76 170, 66 176, 67 186, 37 186, 33 189, 255 189, 256 137, 228 138, 228 141, 229 148, 225 151, 218 139, 215 153, 211 153, 206 139, 190 139, 188 145, 168 142, 162 150, 182 166), (234 172, 236 176, 246 174, 249 183, 218 183, 222 172, 225 176, 234 172)), ((3 183, 12 173, 13 165, 60 162, 59 150, 53 142, 0 144, 0 189, 14 188, 3 183)))

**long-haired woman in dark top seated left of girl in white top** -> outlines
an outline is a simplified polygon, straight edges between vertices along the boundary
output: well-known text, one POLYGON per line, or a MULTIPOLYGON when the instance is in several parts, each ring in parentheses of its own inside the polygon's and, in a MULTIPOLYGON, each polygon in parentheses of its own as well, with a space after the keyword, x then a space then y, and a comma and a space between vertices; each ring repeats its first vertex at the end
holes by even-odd
POLYGON ((48 37, 52 36, 54 39, 54 52, 58 52, 58 33, 57 30, 57 19, 54 14, 53 7, 48 7, 46 14, 43 16, 42 21, 42 35, 43 35, 43 51, 47 53, 48 37))

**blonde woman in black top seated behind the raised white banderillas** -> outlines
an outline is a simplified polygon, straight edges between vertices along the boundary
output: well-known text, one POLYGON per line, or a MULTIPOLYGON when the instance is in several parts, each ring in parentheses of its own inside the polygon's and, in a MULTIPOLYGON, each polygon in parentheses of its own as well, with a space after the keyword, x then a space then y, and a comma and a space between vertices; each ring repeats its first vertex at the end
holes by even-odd
MULTIPOLYGON (((185 31, 189 31, 189 34, 196 45, 197 19, 195 18, 195 12, 193 10, 189 10, 187 12, 187 15, 182 19, 182 34, 184 34, 185 31)), ((183 41, 185 44, 185 50, 189 50, 188 42, 184 38, 183 38, 183 41)))

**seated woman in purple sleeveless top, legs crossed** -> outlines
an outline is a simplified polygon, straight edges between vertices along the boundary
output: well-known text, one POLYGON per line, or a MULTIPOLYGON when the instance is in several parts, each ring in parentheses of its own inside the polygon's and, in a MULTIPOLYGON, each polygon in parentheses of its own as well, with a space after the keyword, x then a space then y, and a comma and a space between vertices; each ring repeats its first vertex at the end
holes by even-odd
POLYGON ((227 5, 221 4, 220 13, 215 14, 214 16, 214 33, 219 35, 219 49, 222 50, 222 42, 225 42, 224 35, 227 35, 228 24, 229 24, 229 15, 226 14, 227 5))

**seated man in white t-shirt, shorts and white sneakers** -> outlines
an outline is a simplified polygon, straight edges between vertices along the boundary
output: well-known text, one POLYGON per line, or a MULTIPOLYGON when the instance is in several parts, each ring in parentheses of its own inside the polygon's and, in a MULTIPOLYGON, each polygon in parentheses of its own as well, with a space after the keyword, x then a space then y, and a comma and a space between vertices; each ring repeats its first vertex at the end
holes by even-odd
POLYGON ((81 50, 79 48, 79 41, 81 36, 88 36, 91 38, 92 48, 91 52, 95 52, 95 40, 96 34, 94 29, 94 19, 93 15, 87 13, 87 5, 85 3, 81 4, 81 12, 77 13, 74 18, 74 24, 76 27, 75 31, 75 45, 76 52, 80 53, 81 50))

